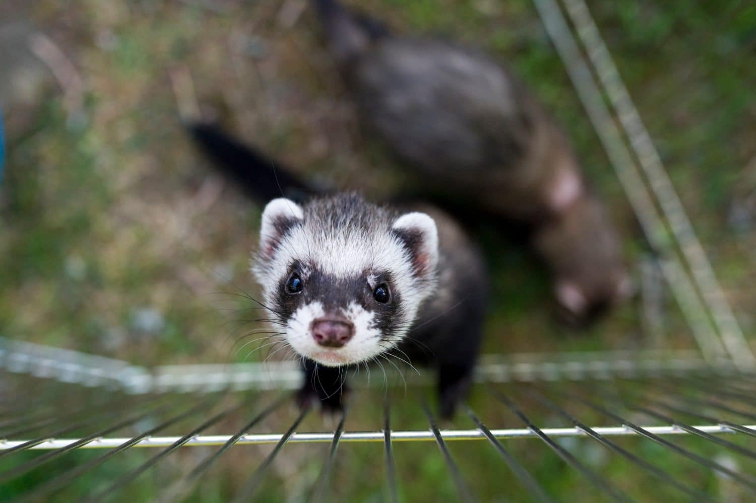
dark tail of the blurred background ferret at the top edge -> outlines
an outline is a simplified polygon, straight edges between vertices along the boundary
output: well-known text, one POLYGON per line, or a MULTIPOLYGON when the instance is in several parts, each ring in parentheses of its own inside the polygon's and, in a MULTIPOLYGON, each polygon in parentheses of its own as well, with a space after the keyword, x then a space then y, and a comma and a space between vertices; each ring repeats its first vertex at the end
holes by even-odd
POLYGON ((376 39, 389 34, 379 20, 351 11, 337 0, 312 0, 318 9, 328 48, 339 64, 362 54, 376 39))

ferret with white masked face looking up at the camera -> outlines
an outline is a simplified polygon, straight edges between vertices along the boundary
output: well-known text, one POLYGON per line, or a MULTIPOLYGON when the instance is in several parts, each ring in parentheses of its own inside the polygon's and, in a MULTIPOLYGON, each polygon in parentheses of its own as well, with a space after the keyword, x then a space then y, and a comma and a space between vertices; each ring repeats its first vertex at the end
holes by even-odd
POLYGON ((215 126, 191 133, 266 203, 252 270, 272 323, 302 356, 300 401, 339 408, 344 368, 408 360, 438 367, 450 417, 469 387, 488 295, 481 253, 460 225, 428 204, 325 194, 215 126))

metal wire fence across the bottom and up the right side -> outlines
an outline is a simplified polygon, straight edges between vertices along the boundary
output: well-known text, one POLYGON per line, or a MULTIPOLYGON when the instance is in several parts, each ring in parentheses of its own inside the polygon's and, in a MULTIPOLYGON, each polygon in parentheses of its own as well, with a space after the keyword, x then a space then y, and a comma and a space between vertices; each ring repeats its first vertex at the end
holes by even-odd
POLYGON ((695 349, 486 356, 441 422, 401 365, 355 371, 324 417, 296 407, 293 362, 0 340, 0 499, 751 501, 753 352, 587 6, 534 5, 689 326, 658 346, 695 349))

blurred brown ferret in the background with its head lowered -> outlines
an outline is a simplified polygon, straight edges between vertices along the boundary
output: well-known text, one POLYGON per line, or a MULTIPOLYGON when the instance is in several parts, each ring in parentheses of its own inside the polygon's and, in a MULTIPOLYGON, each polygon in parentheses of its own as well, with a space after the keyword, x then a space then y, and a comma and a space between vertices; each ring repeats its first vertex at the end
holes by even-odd
POLYGON ((406 166, 531 227, 556 300, 576 320, 627 296, 618 235, 562 129, 522 81, 479 51, 395 36, 336 0, 314 4, 361 120, 406 166))

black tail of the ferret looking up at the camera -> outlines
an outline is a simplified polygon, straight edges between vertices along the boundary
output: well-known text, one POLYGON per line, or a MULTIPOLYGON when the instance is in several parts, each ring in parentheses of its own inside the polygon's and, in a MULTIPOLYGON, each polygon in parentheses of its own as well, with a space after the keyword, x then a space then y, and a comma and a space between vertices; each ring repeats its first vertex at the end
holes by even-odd
POLYGON ((241 143, 218 126, 192 123, 187 129, 213 165, 261 206, 276 197, 301 202, 319 192, 298 179, 290 169, 241 143))

